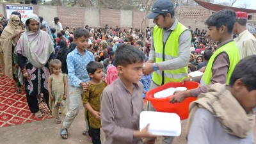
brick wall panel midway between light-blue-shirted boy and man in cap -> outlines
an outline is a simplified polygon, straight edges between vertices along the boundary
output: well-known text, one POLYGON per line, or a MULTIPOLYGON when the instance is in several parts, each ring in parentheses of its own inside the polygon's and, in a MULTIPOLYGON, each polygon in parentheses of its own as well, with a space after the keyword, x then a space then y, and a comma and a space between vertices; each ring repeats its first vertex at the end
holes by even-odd
POLYGON ((106 10, 100 9, 100 27, 105 28, 108 24, 108 28, 120 27, 120 10, 106 10))

